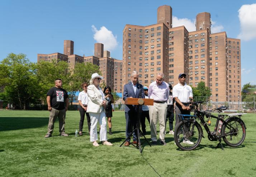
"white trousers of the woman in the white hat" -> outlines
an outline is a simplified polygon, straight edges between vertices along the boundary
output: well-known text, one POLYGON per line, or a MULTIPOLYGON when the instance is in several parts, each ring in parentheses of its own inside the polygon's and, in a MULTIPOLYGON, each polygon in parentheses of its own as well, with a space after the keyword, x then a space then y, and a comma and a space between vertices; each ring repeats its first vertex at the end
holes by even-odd
POLYGON ((91 117, 91 132, 90 132, 90 141, 94 142, 98 140, 97 133, 97 123, 100 123, 100 141, 108 140, 106 136, 106 115, 104 110, 101 110, 100 113, 89 112, 91 117))

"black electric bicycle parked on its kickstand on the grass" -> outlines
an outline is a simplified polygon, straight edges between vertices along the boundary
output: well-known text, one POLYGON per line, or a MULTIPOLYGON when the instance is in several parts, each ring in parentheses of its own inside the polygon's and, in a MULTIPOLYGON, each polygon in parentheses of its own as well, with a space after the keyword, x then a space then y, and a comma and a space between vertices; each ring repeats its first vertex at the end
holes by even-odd
POLYGON ((232 113, 228 115, 221 114, 226 110, 226 106, 217 108, 218 117, 209 112, 199 111, 198 107, 203 101, 190 102, 190 109, 194 110, 194 115, 179 115, 180 122, 175 126, 174 141, 181 150, 194 150, 199 146, 203 135, 203 129, 197 120, 200 120, 208 133, 210 141, 219 141, 222 150, 221 138, 231 147, 237 147, 245 140, 246 126, 242 121, 241 116, 245 113, 232 113), (210 131, 207 122, 204 121, 204 116, 208 118, 216 118, 214 131, 210 131))

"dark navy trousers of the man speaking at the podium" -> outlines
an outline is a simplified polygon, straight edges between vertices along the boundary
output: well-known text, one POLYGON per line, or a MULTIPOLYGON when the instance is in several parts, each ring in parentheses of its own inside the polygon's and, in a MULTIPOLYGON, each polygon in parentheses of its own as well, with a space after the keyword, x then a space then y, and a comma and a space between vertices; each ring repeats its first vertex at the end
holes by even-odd
MULTIPOLYGON (((137 120, 137 112, 125 112, 125 119, 126 119, 126 130, 125 135, 127 141, 131 141, 131 133, 137 127, 136 120, 137 120)), ((139 127, 138 127, 139 128, 139 127)), ((133 132, 133 141, 137 141, 137 132, 133 132)))

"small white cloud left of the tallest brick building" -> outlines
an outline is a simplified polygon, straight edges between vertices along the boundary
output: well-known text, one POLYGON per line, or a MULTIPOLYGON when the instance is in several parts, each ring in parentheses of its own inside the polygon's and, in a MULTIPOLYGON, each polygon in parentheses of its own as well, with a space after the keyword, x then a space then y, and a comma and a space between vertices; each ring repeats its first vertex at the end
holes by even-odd
POLYGON ((108 30, 105 26, 101 26, 100 30, 92 25, 91 26, 94 35, 93 38, 98 42, 104 44, 104 50, 112 51, 117 47, 117 36, 113 35, 113 32, 108 30))

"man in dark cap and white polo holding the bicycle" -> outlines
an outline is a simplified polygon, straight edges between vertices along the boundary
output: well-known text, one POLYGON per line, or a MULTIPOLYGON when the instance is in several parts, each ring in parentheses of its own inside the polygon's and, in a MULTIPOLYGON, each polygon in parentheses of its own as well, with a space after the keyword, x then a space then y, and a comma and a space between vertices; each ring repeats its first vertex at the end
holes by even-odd
MULTIPOLYGON (((175 85, 172 89, 172 96, 176 102, 175 105, 175 127, 180 122, 179 114, 190 115, 189 101, 193 100, 192 88, 186 85, 186 74, 179 74, 179 84, 175 85)), ((189 140, 184 140, 183 143, 192 143, 189 140)))

